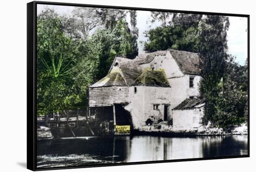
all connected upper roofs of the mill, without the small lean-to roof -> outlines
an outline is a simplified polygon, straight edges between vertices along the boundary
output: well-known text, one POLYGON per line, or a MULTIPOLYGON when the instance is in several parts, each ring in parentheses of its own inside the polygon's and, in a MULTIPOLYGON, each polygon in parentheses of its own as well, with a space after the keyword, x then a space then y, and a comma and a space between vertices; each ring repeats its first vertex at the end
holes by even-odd
POLYGON ((193 74, 199 75, 199 56, 197 53, 188 51, 177 51, 177 50, 165 50, 165 51, 155 51, 150 53, 144 53, 135 59, 128 59, 124 57, 115 57, 115 60, 108 72, 108 75, 102 78, 97 83, 94 83, 91 87, 101 87, 101 86, 130 86, 134 85, 155 85, 169 87, 166 84, 165 76, 160 71, 146 71, 142 75, 142 68, 140 64, 150 63, 156 56, 165 57, 167 52, 170 52, 172 57, 175 59, 179 68, 182 70, 183 74, 193 74), (118 62, 119 70, 113 71, 112 68, 114 63, 118 62), (154 77, 153 77, 154 76, 154 77), (159 77, 159 78, 158 78, 159 77), (160 79, 160 80, 159 80, 160 79), (162 80, 163 79, 163 80, 162 80))

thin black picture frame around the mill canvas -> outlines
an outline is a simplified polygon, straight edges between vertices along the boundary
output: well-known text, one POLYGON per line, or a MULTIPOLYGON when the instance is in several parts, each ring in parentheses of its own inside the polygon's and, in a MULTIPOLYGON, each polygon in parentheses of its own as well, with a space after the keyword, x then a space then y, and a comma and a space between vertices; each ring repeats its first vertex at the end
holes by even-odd
POLYGON ((157 160, 145 162, 128 162, 128 163, 112 163, 112 164, 99 164, 88 166, 68 166, 68 167, 50 167, 50 168, 37 168, 36 167, 36 23, 37 23, 37 5, 61 5, 61 6, 84 6, 84 7, 103 7, 114 9, 127 9, 127 10, 141 10, 141 11, 160 11, 160 12, 175 12, 175 13, 195 13, 195 14, 208 14, 208 15, 224 15, 248 18, 248 101, 249 97, 249 36, 250 36, 250 16, 247 14, 233 14, 233 13, 209 13, 197 11, 182 11, 182 10, 167 10, 167 9, 153 9, 153 8, 138 8, 138 7, 125 7, 125 6, 103 6, 103 5, 88 5, 88 4, 73 4, 73 3, 60 3, 60 2, 45 2, 33 1, 27 3, 27 169, 32 171, 41 170, 57 170, 57 169, 72 169, 72 168, 88 168, 88 167, 101 167, 101 166, 123 166, 135 164, 149 164, 149 163, 164 163, 164 162, 179 162, 179 161, 195 161, 195 160, 208 160, 208 159, 230 159, 230 158, 245 158, 249 157, 249 143, 250 143, 250 122, 249 122, 249 103, 248 103, 248 155, 239 156, 223 156, 223 157, 210 157, 210 158, 193 158, 193 159, 173 159, 173 160, 157 160))

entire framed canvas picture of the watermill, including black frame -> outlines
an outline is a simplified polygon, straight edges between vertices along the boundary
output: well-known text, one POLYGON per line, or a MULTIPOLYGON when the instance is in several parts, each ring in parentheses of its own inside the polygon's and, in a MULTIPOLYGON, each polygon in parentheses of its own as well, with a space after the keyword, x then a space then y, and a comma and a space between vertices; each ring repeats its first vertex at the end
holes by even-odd
POLYGON ((27 4, 27 168, 249 157, 249 15, 27 4))

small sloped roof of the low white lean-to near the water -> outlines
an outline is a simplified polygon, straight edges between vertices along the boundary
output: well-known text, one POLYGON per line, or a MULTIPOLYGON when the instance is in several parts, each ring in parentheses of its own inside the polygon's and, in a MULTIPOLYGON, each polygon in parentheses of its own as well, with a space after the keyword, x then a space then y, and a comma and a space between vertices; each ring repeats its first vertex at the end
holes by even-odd
POLYGON ((173 110, 189 110, 195 108, 195 106, 204 103, 204 98, 185 99, 181 104, 173 108, 173 110))

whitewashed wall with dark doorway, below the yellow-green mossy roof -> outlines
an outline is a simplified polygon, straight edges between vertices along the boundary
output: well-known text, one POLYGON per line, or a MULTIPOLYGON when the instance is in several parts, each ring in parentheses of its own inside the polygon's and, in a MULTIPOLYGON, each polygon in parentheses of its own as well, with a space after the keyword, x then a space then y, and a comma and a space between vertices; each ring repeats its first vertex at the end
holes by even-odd
MULTIPOLYGON (((164 87, 136 86, 137 93, 134 93, 135 86, 129 87, 130 104, 126 107, 131 111, 135 128, 146 125, 145 121, 151 116, 155 120, 164 115, 164 104, 170 104, 171 89, 164 87), (159 110, 154 110, 153 105, 159 104, 159 110), (154 118, 153 117, 153 118, 154 118)), ((171 111, 169 110, 169 115, 171 111)))

